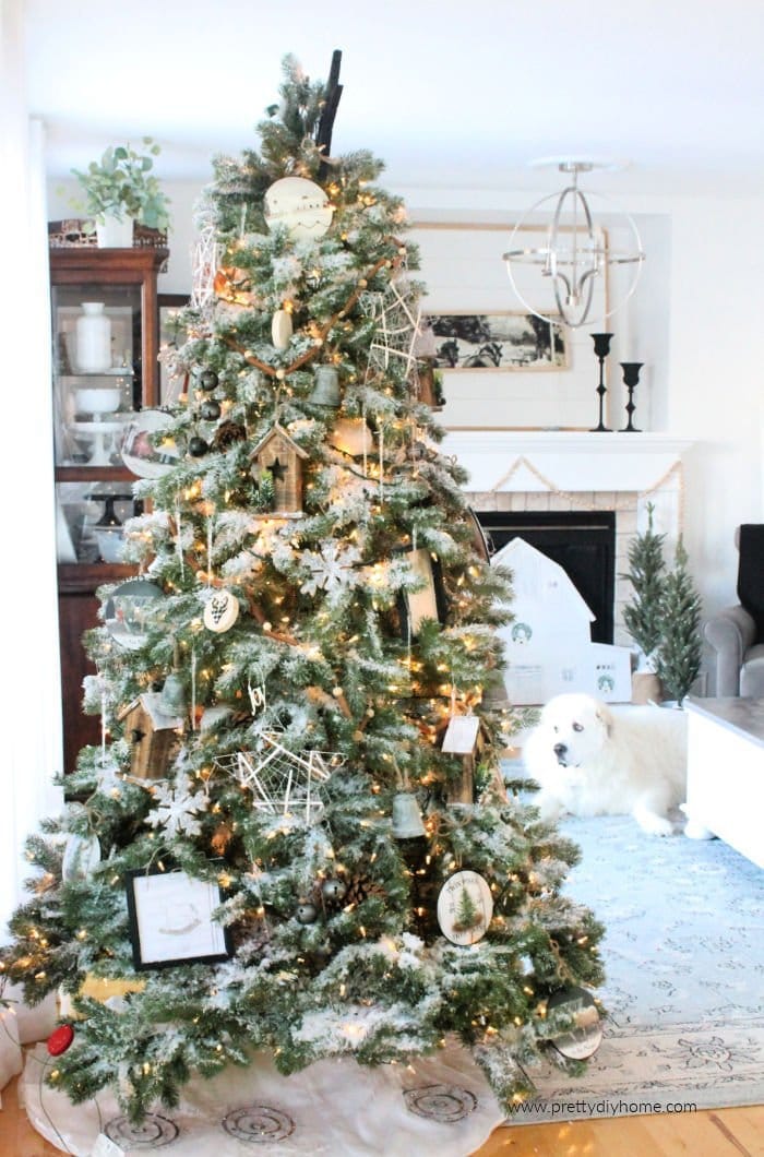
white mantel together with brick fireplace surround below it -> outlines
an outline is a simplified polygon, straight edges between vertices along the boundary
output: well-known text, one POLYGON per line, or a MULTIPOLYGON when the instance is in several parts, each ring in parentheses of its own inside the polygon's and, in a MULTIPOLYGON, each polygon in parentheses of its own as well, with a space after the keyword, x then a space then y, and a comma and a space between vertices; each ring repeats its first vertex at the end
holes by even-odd
POLYGON ((614 642, 629 646, 623 607, 631 585, 617 576, 629 566, 633 536, 647 528, 648 502, 673 554, 682 531, 682 456, 691 445, 670 434, 451 429, 441 449, 469 471, 468 500, 478 513, 616 513, 614 642))

